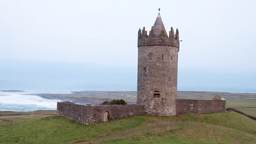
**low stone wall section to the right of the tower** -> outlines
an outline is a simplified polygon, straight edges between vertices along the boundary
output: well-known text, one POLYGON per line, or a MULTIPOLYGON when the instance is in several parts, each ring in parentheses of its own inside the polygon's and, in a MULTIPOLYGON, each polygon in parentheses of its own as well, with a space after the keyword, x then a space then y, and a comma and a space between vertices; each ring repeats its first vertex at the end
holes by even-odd
MULTIPOLYGON (((193 108, 192 108, 193 109, 193 108)), ((177 115, 197 114, 211 112, 225 112, 226 100, 195 100, 195 99, 177 99, 177 115), (194 112, 191 108, 194 105, 194 112)))

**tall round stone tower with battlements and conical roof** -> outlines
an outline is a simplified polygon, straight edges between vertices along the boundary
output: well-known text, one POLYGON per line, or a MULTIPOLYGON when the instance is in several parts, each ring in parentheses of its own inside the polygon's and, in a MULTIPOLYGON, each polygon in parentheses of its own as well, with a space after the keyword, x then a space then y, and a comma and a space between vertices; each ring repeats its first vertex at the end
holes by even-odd
POLYGON ((147 34, 138 31, 137 104, 148 115, 176 115, 179 31, 166 33, 160 13, 147 34))

